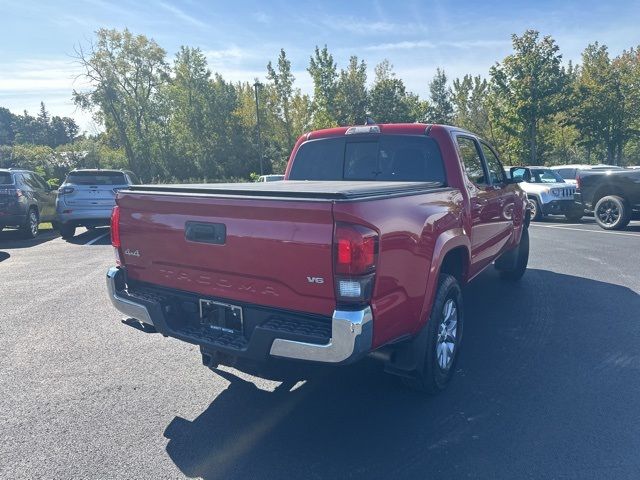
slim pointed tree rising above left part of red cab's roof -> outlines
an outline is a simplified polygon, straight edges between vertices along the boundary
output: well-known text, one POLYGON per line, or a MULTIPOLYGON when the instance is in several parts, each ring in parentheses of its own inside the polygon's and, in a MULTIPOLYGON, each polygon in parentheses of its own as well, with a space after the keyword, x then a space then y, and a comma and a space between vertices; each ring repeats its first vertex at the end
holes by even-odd
POLYGON ((338 70, 326 45, 316 46, 307 71, 313 80, 313 128, 335 127, 338 70))

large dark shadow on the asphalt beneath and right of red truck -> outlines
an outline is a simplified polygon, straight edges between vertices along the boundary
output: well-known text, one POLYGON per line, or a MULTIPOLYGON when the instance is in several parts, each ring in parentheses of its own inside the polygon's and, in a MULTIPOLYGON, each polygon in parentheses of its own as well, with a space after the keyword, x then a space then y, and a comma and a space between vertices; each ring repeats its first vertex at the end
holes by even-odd
POLYGON ((536 269, 508 284, 491 270, 466 288, 465 310, 456 376, 436 397, 368 359, 273 391, 218 371, 228 388, 171 421, 166 451, 205 479, 638 472, 640 295, 536 269))

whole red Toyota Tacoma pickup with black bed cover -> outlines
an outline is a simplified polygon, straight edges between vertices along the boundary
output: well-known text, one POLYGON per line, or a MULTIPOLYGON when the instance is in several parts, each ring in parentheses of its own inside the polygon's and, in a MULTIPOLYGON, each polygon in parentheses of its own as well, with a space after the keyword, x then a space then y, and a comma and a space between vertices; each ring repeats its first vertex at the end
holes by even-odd
POLYGON ((442 125, 332 128, 285 180, 119 191, 109 296, 131 326, 205 365, 343 364, 366 355, 417 389, 449 382, 461 286, 529 256, 526 195, 494 150, 442 125))

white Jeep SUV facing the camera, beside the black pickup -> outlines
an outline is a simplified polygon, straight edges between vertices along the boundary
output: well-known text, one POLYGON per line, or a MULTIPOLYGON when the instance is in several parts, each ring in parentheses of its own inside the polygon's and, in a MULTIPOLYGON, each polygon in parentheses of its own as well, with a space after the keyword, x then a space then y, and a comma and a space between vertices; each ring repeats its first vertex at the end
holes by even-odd
POLYGON ((510 178, 518 178, 520 188, 527 193, 531 219, 541 220, 545 215, 564 215, 567 220, 577 222, 584 215, 573 196, 576 186, 564 181, 549 167, 511 167, 510 178))

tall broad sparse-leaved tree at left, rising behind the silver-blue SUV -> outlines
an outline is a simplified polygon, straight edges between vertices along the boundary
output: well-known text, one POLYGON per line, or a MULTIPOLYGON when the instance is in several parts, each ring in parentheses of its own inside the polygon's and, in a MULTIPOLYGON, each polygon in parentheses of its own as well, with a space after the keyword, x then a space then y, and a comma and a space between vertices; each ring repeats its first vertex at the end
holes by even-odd
POLYGON ((158 91, 169 79, 165 51, 127 29, 100 29, 96 37, 88 51, 77 50, 91 89, 74 90, 74 101, 83 109, 97 109, 97 118, 124 148, 129 168, 148 180, 159 173, 154 136, 162 121, 158 91))

